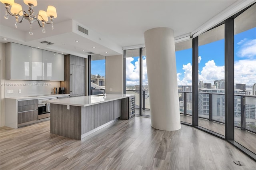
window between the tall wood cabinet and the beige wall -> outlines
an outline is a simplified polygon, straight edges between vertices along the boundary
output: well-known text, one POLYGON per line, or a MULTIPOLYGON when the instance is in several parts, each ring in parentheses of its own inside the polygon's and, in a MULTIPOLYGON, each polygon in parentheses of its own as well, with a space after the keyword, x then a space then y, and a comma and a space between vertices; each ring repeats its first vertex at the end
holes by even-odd
POLYGON ((91 55, 91 95, 105 93, 105 63, 105 56, 91 55))

